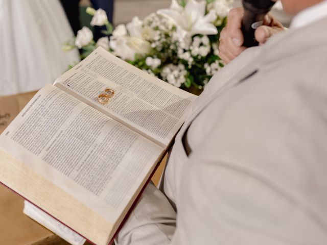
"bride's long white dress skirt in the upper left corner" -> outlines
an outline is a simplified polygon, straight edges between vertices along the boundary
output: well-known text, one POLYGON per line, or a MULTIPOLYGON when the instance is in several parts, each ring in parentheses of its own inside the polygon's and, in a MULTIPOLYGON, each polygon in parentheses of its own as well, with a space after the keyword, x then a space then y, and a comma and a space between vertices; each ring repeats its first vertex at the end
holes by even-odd
POLYGON ((0 96, 40 89, 79 61, 58 0, 0 0, 0 96))

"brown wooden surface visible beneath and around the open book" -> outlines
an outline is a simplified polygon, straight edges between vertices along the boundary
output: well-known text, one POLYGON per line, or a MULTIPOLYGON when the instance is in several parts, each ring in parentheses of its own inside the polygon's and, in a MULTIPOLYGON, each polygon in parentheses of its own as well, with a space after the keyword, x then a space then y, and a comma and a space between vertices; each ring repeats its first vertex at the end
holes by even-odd
MULTIPOLYGON (((12 96, 0 96, 0 133, 10 124, 35 92, 12 96)), ((162 160, 152 181, 157 184, 165 167, 167 156, 162 160)), ((22 213, 24 199, 0 184, 0 244, 6 245, 67 245, 48 229, 22 213)), ((86 242, 85 244, 90 244, 86 242)))

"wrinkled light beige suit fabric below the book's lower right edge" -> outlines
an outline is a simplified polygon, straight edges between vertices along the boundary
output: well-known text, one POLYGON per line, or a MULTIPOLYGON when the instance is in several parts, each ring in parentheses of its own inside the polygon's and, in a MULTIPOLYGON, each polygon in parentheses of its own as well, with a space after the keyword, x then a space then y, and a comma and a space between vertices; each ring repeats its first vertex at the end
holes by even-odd
POLYGON ((115 243, 117 245, 169 244, 175 227, 175 210, 164 193, 150 182, 116 237, 115 243))

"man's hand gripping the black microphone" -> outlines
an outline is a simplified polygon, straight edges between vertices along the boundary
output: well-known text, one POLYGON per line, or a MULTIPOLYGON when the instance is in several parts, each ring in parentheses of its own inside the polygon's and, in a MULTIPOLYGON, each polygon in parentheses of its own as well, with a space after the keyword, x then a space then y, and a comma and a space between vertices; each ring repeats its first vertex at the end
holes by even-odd
MULTIPOLYGON (((227 25, 220 33, 219 57, 226 64, 246 49, 246 47, 242 46, 244 42, 241 31, 243 14, 243 8, 230 10, 227 17, 227 25)), ((259 44, 262 45, 269 37, 283 30, 284 27, 281 22, 267 14, 264 18, 263 26, 255 30, 254 36, 259 44)))

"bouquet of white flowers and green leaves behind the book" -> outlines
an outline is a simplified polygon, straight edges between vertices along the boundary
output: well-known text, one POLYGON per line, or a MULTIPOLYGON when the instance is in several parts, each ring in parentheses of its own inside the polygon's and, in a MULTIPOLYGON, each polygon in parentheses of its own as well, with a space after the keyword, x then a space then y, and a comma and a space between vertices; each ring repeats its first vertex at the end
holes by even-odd
POLYGON ((181 88, 203 89, 209 79, 223 67, 219 58, 220 31, 232 0, 172 0, 169 9, 160 9, 140 20, 120 24, 114 30, 101 9, 87 8, 93 15, 92 26, 106 26, 110 38, 93 40, 92 32, 83 27, 74 43, 85 58, 102 46, 113 55, 181 88))

